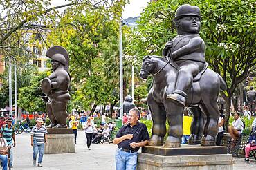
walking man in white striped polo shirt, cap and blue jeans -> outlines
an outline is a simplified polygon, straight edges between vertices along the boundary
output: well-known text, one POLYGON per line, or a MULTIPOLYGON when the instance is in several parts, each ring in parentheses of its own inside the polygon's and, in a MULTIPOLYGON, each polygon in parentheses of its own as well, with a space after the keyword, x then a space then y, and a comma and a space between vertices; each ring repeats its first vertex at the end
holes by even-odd
POLYGON ((37 118, 37 124, 33 126, 31 131, 31 146, 33 147, 33 166, 37 162, 37 153, 38 156, 38 167, 42 167, 42 160, 44 155, 44 144, 47 143, 47 130, 44 125, 42 125, 42 118, 37 118))

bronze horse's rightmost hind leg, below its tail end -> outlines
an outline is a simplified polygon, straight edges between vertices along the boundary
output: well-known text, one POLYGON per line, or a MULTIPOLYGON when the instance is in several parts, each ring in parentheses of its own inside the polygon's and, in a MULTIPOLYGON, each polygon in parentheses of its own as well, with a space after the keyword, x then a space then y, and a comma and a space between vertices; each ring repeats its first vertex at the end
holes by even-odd
POLYGON ((217 99, 205 99, 200 104, 200 108, 203 110, 207 117, 203 129, 203 138, 201 140, 202 146, 216 145, 216 137, 218 134, 218 120, 220 115, 216 101, 217 99))

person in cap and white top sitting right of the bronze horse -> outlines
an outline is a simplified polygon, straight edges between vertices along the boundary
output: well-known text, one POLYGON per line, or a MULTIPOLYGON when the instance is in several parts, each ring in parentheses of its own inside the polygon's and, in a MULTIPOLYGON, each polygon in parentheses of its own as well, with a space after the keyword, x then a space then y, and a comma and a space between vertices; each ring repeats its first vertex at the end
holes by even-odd
POLYGON ((240 118, 240 114, 238 112, 233 113, 234 121, 232 122, 232 125, 228 126, 228 133, 231 135, 231 139, 228 140, 228 142, 234 142, 239 138, 239 135, 244 130, 244 122, 240 118))

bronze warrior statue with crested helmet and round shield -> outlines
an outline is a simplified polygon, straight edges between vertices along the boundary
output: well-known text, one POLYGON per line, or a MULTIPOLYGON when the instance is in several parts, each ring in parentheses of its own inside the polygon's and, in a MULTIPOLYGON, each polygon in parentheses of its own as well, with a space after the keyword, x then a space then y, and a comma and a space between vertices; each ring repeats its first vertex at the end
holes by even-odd
POLYGON ((68 53, 62 46, 53 46, 46 52, 46 56, 51 58, 53 73, 42 80, 41 88, 48 97, 46 103, 46 113, 51 120, 50 128, 62 128, 66 126, 67 102, 71 96, 68 90, 71 86, 71 76, 68 73, 69 58, 68 53))

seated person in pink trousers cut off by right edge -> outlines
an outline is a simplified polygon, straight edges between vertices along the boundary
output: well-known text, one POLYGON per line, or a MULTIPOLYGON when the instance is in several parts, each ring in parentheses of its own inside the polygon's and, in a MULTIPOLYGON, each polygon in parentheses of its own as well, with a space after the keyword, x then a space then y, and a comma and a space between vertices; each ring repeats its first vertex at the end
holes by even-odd
POLYGON ((245 162, 249 162, 250 157, 250 151, 253 151, 256 149, 256 126, 252 127, 252 131, 250 131, 248 143, 246 144, 246 147, 244 149, 245 152, 245 162))

